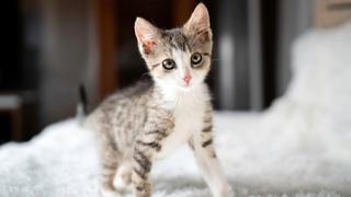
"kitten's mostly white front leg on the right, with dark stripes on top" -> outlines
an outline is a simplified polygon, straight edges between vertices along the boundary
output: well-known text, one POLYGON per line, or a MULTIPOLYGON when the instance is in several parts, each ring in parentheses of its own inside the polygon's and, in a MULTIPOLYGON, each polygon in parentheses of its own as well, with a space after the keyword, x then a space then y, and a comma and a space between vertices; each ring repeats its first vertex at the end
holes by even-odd
POLYGON ((197 165, 208 184, 214 197, 228 197, 228 186, 213 147, 212 123, 205 124, 200 135, 190 139, 197 165))

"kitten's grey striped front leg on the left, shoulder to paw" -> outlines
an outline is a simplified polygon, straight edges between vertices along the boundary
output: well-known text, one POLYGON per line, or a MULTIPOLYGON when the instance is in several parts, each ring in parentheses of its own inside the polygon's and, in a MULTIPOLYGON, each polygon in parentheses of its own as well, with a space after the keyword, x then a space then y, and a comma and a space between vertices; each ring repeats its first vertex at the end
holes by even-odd
POLYGON ((162 148, 166 139, 174 128, 171 112, 157 106, 148 108, 148 121, 143 132, 133 143, 133 194, 135 197, 150 197, 152 188, 150 183, 150 170, 152 160, 162 148))

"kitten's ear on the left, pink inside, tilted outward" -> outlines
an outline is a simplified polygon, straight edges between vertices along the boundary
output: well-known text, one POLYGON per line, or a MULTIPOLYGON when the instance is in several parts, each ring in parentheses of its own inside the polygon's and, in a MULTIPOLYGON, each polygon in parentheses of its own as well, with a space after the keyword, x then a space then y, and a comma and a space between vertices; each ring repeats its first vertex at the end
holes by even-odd
POLYGON ((141 45, 144 53, 151 54, 157 46, 160 32, 145 19, 137 18, 135 21, 135 35, 138 38, 139 46, 141 45))

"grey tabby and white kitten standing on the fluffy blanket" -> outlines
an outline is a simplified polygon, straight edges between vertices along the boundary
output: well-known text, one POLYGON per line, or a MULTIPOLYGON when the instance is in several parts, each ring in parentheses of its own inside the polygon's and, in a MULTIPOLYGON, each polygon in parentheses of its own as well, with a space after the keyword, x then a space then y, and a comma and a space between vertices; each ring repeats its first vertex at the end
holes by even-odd
POLYGON ((152 162, 188 142, 213 195, 227 197, 204 82, 213 45, 206 7, 200 3, 181 28, 162 31, 137 18, 135 34, 154 83, 111 95, 86 119, 97 131, 103 194, 132 184, 134 196, 151 196, 152 162))

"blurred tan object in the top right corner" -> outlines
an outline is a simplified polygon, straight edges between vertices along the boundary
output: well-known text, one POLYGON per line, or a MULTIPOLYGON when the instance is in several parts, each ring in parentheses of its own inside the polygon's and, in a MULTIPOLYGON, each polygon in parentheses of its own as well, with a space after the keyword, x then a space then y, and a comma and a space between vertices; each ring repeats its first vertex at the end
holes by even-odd
POLYGON ((315 0, 317 27, 338 26, 349 20, 351 20, 351 0, 315 0))

